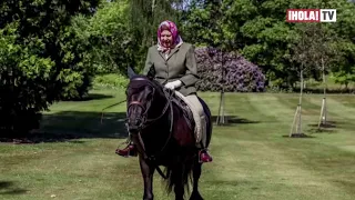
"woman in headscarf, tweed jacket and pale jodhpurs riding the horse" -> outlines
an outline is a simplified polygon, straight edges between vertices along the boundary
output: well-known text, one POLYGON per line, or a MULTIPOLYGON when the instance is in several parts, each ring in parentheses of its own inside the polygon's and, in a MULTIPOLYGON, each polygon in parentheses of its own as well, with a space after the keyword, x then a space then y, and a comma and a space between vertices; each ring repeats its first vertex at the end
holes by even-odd
MULTIPOLYGON (((195 83, 199 80, 194 47, 183 42, 172 21, 163 21, 158 29, 158 44, 149 49, 144 74, 152 76, 165 88, 183 94, 195 120, 196 147, 200 161, 211 162, 206 149, 206 120, 203 107, 196 94, 195 83)), ((136 156, 136 148, 131 142, 123 150, 116 150, 122 157, 136 156)))

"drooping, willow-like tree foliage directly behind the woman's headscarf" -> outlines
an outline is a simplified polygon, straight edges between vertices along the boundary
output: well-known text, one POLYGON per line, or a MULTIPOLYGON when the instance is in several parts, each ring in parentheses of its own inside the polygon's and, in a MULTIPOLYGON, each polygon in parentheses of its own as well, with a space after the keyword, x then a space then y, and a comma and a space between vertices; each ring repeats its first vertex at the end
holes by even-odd
POLYGON ((132 49, 131 58, 140 71, 144 67, 146 50, 156 42, 156 29, 163 20, 171 20, 180 27, 182 10, 186 0, 131 0, 129 1, 129 29, 130 44, 132 49))

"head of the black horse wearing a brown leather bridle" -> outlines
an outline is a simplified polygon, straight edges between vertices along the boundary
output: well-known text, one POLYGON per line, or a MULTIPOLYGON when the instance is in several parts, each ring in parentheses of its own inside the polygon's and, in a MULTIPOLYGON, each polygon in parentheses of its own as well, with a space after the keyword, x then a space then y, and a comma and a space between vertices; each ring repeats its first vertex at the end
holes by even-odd
POLYGON ((156 84, 152 78, 139 76, 129 69, 130 82, 126 88, 126 114, 130 132, 138 132, 144 128, 149 118, 156 117, 160 110, 152 109, 161 102, 162 87, 156 84))

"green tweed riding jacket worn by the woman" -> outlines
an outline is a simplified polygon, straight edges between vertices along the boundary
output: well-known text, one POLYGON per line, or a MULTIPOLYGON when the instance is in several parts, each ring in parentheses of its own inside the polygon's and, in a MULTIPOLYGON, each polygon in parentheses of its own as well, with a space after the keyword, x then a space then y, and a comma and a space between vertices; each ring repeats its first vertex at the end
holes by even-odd
POLYGON ((168 59, 164 53, 158 51, 158 46, 150 47, 143 74, 154 77, 162 84, 180 80, 183 86, 175 90, 183 96, 196 93, 195 83, 200 77, 194 46, 184 42, 172 49, 168 59))

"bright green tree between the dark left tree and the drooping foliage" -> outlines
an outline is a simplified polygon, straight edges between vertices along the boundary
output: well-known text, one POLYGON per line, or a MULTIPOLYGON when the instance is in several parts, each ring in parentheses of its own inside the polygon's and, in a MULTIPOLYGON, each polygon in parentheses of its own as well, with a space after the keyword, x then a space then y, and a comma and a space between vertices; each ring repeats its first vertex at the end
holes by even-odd
POLYGON ((93 17, 78 16, 72 27, 87 47, 85 61, 95 74, 122 73, 132 58, 133 38, 125 0, 102 2, 93 17))

